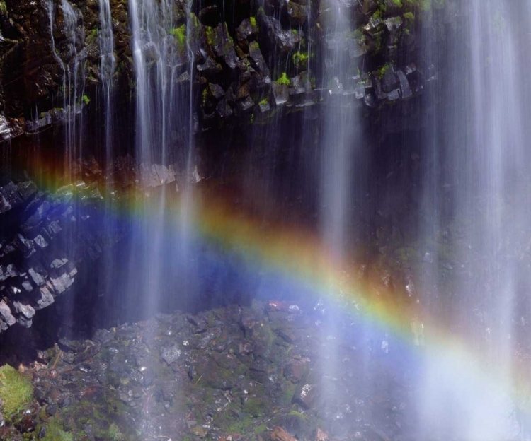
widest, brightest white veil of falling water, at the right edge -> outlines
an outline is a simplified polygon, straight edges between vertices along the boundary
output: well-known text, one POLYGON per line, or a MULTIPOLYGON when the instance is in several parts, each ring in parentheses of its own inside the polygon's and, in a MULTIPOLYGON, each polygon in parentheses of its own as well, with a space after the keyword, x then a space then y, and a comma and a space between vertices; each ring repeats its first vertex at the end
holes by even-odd
MULTIPOLYGON (((528 345, 524 311, 530 278, 522 237, 530 214, 529 133, 524 124, 530 109, 524 99, 525 67, 518 66, 529 44, 523 23, 529 2, 475 0, 463 7, 468 23, 455 38, 469 41, 468 52, 458 44, 448 55, 452 81, 442 93, 451 98, 442 93, 430 97, 450 110, 435 113, 444 130, 427 126, 435 144, 432 151, 445 152, 444 158, 431 161, 425 182, 425 190, 432 191, 424 205, 431 206, 435 225, 428 242, 440 240, 452 250, 451 257, 447 252, 440 262, 433 261, 444 266, 450 282, 440 283, 438 293, 431 291, 437 297, 426 300, 432 302, 433 314, 448 317, 447 325, 481 354, 483 367, 489 367, 499 386, 519 378, 518 353, 528 345)), ((426 287, 438 283, 436 273, 424 271, 426 287)), ((487 389, 470 375, 469 365, 448 355, 426 363, 424 434, 501 440, 520 430, 525 436, 515 421, 522 402, 510 394, 514 391, 487 389)))

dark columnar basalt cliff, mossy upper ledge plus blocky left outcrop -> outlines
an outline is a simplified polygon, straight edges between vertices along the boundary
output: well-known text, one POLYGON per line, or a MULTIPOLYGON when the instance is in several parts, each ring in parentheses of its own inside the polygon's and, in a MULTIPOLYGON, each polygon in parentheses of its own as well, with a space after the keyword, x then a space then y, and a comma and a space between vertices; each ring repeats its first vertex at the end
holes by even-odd
MULTIPOLYGON (((172 63, 168 80, 190 97, 192 136, 203 150, 205 170, 191 170, 193 180, 226 170, 216 164, 227 154, 220 134, 268 124, 285 131, 297 118, 311 119, 318 132, 327 106, 338 102, 364 112, 361 124, 375 143, 389 133, 418 131, 426 111, 421 97, 444 62, 425 57, 420 42, 445 40, 462 14, 457 1, 346 2, 339 13, 351 18, 352 29, 340 35, 333 11, 338 6, 328 0, 170 4, 166 20, 172 27, 164 30, 172 63), (341 45, 348 46, 349 69, 331 76, 331 58, 341 45)), ((170 182, 183 187, 188 180, 171 156, 157 167, 139 167, 130 156, 115 160, 135 155, 137 76, 130 2, 110 0, 112 33, 102 30, 102 5, 0 1, 0 222, 9 225, 0 237, 0 330, 16 321, 30 326, 35 310, 72 286, 81 262, 96 259, 122 237, 105 231, 104 216, 91 215, 96 206, 103 209, 101 199, 110 197, 114 185, 137 180, 138 188, 170 182), (113 121, 117 127, 110 130, 113 121), (97 163, 81 160, 89 155, 97 163), (54 160, 42 161, 44 156, 54 160), (13 177, 13 164, 30 176, 13 177), (65 185, 50 191, 42 175, 65 185), (67 243, 69 230, 84 237, 76 247, 67 243)), ((155 66, 160 54, 150 44, 141 49, 146 66, 155 66)), ((169 136, 178 150, 183 136, 169 136)), ((268 141, 263 144, 258 148, 268 141)), ((241 172, 241 165, 234 170, 241 172)))

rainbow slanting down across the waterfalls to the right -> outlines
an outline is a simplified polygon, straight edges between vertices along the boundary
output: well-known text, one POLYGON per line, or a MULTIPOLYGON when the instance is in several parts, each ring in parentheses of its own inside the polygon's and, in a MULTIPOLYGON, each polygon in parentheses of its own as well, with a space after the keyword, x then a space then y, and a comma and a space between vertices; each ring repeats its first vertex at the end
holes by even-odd
MULTIPOLYGON (((55 187, 52 181, 46 180, 48 188, 55 187)), ((194 230, 202 240, 237 249, 257 269, 271 269, 323 293, 338 307, 360 314, 411 348, 424 339, 426 346, 417 352, 432 363, 474 387, 488 389, 493 396, 510 397, 520 411, 531 413, 531 378, 523 357, 510 360, 508 370, 506 366, 498 369, 473 341, 429 314, 418 299, 392 292, 377 278, 358 276, 360 264, 353 257, 334 259, 311 229, 238 208, 224 189, 212 187, 199 187, 193 197, 194 230)), ((158 198, 134 192, 127 203, 120 204, 116 216, 149 216, 146 199, 158 198)), ((175 192, 166 195, 165 204, 167 213, 183 211, 183 201, 175 192)))

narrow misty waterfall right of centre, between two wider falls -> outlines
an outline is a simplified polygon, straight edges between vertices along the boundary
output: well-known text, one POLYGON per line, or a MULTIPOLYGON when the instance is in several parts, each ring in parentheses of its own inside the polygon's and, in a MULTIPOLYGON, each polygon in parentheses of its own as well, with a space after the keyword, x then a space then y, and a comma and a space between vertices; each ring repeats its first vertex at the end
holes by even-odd
MULTIPOLYGON (((324 37, 325 60, 323 89, 329 95, 323 107, 324 128, 321 140, 321 237, 328 258, 335 264, 343 264, 352 239, 349 226, 353 204, 353 165, 358 139, 358 111, 353 97, 350 78, 358 70, 358 59, 351 57, 348 47, 353 44, 349 35, 355 28, 348 6, 337 2, 328 20, 329 28, 324 37)), ((338 295, 339 293, 334 293, 338 295)), ((324 348, 325 414, 331 421, 339 418, 344 405, 344 391, 336 389, 337 379, 344 367, 339 355, 341 346, 338 335, 338 316, 334 305, 328 305, 324 325, 328 344, 324 348)))

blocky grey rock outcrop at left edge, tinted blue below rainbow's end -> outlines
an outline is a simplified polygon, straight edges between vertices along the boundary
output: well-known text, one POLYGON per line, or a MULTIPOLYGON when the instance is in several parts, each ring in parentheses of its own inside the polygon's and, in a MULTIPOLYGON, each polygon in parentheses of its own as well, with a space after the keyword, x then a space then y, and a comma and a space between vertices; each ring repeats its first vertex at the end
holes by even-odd
POLYGON ((101 228, 102 199, 96 180, 56 192, 29 180, 0 187, 1 331, 16 322, 30 327, 35 312, 72 287, 83 261, 118 241, 116 231, 101 228))

